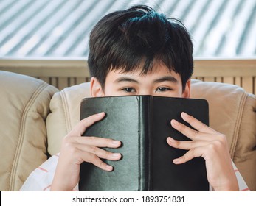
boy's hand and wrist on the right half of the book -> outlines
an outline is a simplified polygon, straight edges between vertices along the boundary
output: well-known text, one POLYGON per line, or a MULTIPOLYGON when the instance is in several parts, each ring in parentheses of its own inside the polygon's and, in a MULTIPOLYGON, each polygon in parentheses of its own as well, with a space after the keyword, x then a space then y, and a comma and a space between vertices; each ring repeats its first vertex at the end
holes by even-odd
POLYGON ((232 167, 225 135, 207 127, 186 113, 181 113, 181 117, 195 129, 174 119, 170 122, 174 129, 191 139, 191 141, 176 141, 173 138, 167 138, 170 146, 189 150, 183 156, 173 160, 173 163, 181 164, 194 157, 203 157, 208 182, 215 191, 238 191, 238 181, 232 167))

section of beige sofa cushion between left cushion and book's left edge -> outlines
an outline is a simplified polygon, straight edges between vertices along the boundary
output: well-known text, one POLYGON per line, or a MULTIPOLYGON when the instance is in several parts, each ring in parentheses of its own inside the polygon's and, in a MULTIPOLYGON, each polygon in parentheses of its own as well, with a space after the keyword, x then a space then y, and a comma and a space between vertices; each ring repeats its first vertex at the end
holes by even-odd
POLYGON ((90 84, 83 83, 55 93, 50 102, 51 113, 46 118, 48 152, 60 152, 61 141, 80 120, 80 102, 90 96, 90 84))

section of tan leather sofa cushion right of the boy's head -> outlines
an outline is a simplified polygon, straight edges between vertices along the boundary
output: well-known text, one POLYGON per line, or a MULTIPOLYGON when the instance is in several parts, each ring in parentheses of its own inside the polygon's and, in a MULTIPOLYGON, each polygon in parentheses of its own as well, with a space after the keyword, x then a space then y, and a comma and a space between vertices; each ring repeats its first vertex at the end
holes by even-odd
POLYGON ((236 85, 195 80, 191 92, 208 100, 210 126, 226 135, 232 160, 256 191, 256 96, 236 85))

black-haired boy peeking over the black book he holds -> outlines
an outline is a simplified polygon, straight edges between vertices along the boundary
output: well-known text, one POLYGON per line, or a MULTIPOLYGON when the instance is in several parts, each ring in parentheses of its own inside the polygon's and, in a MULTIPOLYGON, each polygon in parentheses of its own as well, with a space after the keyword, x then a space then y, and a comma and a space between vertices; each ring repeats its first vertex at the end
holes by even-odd
MULTIPOLYGON (((156 13, 150 7, 136 6, 105 15, 90 35, 88 63, 91 96, 154 95, 189 98, 190 77, 193 74, 192 54, 193 44, 184 26, 175 19, 167 19, 165 15, 156 13)), ((50 186, 52 191, 72 191, 79 181, 80 164, 83 161, 111 171, 112 166, 102 159, 120 160, 122 154, 101 149, 117 148, 121 145, 120 141, 81 137, 86 128, 104 116, 105 113, 99 113, 83 119, 63 139, 50 186)), ((181 164, 194 157, 204 157, 212 190, 238 191, 238 180, 226 137, 186 113, 181 113, 181 117, 194 129, 174 119, 170 122, 173 128, 191 139, 176 141, 167 138, 170 146, 188 150, 184 156, 173 160, 173 163, 181 164)))

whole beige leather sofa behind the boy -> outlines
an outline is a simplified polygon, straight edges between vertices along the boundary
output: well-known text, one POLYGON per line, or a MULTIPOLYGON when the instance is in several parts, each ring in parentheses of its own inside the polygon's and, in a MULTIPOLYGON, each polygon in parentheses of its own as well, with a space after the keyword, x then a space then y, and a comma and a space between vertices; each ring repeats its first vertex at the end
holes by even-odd
MULTIPOLYGON (((31 171, 60 151, 79 121, 89 83, 58 91, 39 79, 0 71, 0 190, 18 191, 31 171)), ((256 191, 256 97, 235 85, 193 80, 192 97, 207 99, 210 126, 226 135, 230 154, 256 191)))

